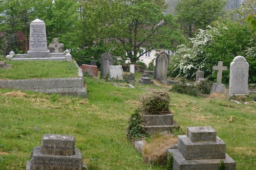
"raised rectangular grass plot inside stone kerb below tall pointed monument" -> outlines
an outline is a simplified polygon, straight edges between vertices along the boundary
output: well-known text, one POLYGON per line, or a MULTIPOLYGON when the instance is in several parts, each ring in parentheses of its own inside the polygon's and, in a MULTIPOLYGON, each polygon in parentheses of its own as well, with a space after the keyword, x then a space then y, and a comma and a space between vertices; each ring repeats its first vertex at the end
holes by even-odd
POLYGON ((77 77, 77 67, 73 61, 17 61, 7 60, 10 68, 0 69, 0 79, 42 79, 77 77))

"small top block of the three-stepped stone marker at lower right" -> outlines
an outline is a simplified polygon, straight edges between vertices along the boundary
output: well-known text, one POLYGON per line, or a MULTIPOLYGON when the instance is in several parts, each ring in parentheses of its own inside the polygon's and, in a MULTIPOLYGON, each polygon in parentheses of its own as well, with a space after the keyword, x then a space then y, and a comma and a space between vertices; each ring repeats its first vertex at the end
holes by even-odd
POLYGON ((210 126, 187 127, 187 137, 191 142, 216 141, 217 132, 210 126))

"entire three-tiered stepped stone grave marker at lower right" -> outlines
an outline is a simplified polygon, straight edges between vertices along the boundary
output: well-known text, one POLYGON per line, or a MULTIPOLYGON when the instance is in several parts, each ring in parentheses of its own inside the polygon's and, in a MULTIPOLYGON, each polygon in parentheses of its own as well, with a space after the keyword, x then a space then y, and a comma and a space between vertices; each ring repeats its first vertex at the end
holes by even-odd
POLYGON ((236 169, 236 162, 226 154, 225 142, 209 126, 187 127, 187 135, 178 135, 178 149, 167 150, 170 152, 173 170, 218 170, 221 161, 226 170, 236 169))

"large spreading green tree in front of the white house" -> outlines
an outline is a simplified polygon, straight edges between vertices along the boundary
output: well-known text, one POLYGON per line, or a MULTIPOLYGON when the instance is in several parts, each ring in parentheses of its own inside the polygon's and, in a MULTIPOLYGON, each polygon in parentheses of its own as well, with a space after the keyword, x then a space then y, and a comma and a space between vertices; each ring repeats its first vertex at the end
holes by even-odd
POLYGON ((170 49, 182 40, 174 16, 162 12, 151 0, 90 1, 83 3, 83 31, 88 42, 109 44, 118 49, 118 56, 135 63, 137 54, 143 54, 141 47, 170 49))

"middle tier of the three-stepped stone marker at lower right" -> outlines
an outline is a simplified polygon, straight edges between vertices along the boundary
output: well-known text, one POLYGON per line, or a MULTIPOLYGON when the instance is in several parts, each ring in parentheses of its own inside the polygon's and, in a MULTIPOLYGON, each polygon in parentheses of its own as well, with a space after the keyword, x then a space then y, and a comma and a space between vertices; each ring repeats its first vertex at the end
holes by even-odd
POLYGON ((226 144, 218 136, 215 142, 191 142, 186 135, 179 135, 178 150, 185 159, 225 159, 226 144))

